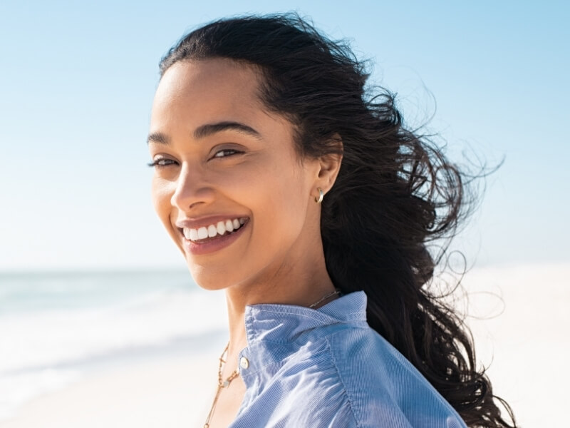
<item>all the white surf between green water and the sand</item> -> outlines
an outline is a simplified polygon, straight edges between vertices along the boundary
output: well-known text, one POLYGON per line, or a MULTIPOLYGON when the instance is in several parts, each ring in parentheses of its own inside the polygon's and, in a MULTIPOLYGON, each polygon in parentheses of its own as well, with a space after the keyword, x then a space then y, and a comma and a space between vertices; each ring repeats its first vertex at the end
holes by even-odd
POLYGON ((223 293, 200 290, 157 290, 103 307, 1 315, 0 420, 81 379, 97 361, 188 346, 226 327, 223 293))

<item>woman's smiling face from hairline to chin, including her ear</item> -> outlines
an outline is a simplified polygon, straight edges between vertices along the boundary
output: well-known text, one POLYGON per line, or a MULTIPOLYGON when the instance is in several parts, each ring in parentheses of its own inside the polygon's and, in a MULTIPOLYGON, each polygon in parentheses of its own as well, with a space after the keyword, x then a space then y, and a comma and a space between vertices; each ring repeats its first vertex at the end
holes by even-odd
POLYGON ((320 244, 319 163, 259 101, 254 68, 180 61, 157 88, 152 200, 204 288, 263 282, 320 244))

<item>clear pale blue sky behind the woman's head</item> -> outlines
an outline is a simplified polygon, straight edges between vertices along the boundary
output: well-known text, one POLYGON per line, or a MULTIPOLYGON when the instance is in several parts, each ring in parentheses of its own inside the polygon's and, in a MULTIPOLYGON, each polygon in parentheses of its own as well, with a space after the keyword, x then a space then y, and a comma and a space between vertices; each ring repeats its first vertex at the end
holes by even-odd
POLYGON ((0 1, 0 270, 182 267, 150 203, 157 63, 204 22, 297 10, 375 61, 408 123, 489 164, 460 249, 570 260, 564 1, 0 1))

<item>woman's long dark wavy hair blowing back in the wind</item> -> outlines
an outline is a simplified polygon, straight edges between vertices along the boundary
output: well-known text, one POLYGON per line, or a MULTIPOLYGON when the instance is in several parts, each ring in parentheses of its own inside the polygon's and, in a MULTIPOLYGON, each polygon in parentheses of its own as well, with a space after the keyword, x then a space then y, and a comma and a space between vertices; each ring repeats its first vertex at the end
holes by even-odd
POLYGON ((294 124, 301 156, 343 154, 321 212, 326 267, 336 287, 366 292, 371 327, 468 426, 515 427, 508 404, 477 370, 462 318, 430 291, 449 239, 470 212, 469 176, 429 138, 403 126, 391 93, 366 86, 366 62, 346 42, 331 41, 296 14, 207 24, 162 58, 161 76, 177 61, 202 58, 257 68, 264 77, 261 101, 294 124), (437 239, 444 244, 432 254, 437 239))

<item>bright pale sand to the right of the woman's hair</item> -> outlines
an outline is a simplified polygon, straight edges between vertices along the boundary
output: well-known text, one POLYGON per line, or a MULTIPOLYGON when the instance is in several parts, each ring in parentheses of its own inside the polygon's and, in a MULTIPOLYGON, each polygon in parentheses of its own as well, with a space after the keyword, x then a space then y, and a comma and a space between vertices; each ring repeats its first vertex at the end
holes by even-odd
POLYGON ((465 279, 477 361, 523 428, 566 425, 569 278, 570 264, 551 264, 489 267, 465 279))

